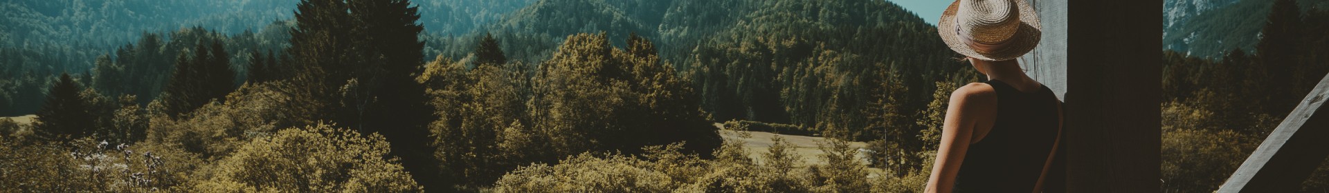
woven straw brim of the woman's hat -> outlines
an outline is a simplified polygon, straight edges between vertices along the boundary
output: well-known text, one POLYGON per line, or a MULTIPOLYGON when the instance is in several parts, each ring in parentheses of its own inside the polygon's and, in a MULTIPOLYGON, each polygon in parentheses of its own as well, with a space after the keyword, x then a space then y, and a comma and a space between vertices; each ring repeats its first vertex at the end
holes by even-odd
POLYGON ((941 20, 937 20, 937 34, 941 40, 960 54, 966 57, 983 59, 983 61, 1009 61, 1025 56, 1030 50, 1038 46, 1038 41, 1042 38, 1042 26, 1038 25, 1038 15, 1034 13, 1034 7, 1029 5, 1025 0, 1014 0, 1019 7, 1019 28, 1015 34, 1011 36, 1013 42, 998 50, 991 50, 990 53, 978 53, 964 41, 956 33, 956 12, 960 9, 960 0, 950 3, 946 12, 941 13, 941 20))

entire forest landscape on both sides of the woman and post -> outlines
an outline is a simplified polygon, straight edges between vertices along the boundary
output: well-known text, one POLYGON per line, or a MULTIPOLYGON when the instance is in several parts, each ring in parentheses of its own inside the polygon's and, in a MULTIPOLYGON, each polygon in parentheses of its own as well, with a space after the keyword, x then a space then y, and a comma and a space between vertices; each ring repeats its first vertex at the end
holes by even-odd
MULTIPOLYGON (((1164 190, 1216 189, 1329 73, 1329 12, 1271 8, 1255 52, 1164 50, 1164 190)), ((983 81, 877 0, 0 11, 19 192, 922 192, 950 91, 983 81)))

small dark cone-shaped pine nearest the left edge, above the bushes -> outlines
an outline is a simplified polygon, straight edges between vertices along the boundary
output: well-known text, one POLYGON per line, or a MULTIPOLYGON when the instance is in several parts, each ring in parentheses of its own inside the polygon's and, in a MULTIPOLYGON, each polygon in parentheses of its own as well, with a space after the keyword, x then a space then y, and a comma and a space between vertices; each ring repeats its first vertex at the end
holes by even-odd
POLYGON ((47 94, 45 106, 37 111, 33 131, 39 137, 69 141, 92 135, 94 120, 78 94, 81 90, 68 73, 60 74, 60 81, 47 94))

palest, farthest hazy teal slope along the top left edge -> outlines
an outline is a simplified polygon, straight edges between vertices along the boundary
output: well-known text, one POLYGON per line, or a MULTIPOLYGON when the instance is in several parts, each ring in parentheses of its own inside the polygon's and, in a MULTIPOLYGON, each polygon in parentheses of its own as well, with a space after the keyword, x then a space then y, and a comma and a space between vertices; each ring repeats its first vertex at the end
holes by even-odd
POLYGON ((292 0, 16 0, 0 3, 8 36, 4 45, 56 45, 88 41, 117 45, 138 40, 142 32, 187 26, 235 34, 262 29, 291 17, 292 0), (54 41, 54 42, 44 42, 54 41))

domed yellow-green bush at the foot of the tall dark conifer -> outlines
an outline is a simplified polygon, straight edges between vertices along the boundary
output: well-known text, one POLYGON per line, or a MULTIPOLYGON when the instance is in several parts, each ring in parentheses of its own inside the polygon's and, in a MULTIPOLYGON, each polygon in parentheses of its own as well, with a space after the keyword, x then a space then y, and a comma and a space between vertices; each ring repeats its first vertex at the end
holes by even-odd
POLYGON ((421 192, 381 135, 318 124, 255 139, 218 161, 202 192, 421 192))

